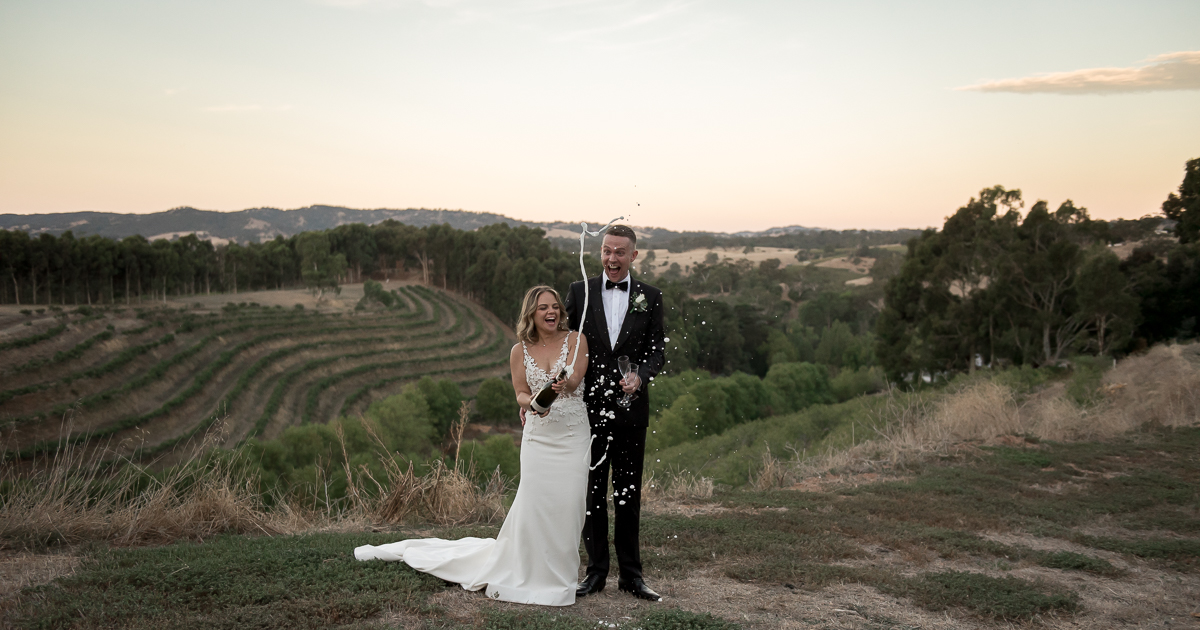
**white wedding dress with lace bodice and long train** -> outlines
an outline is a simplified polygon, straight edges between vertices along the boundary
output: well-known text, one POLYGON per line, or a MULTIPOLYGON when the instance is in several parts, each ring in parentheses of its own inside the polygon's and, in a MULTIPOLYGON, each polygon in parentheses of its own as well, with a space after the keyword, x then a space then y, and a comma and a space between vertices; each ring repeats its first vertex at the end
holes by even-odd
MULTIPOLYGON (((568 335, 568 337, 570 337, 568 335)), ((538 391, 566 364, 566 340, 546 373, 522 343, 526 380, 538 391)), ((587 502, 592 431, 582 391, 559 395, 545 418, 528 414, 521 438, 521 482, 494 538, 438 538, 364 545, 360 560, 403 560, 413 569, 488 598, 517 604, 575 604, 580 535, 587 502)))

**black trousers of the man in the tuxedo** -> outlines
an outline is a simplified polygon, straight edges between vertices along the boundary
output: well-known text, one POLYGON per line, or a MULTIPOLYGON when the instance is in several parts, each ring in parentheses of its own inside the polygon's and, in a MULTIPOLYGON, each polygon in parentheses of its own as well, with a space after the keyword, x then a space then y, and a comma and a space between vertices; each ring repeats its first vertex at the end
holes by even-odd
POLYGON ((638 526, 642 516, 642 458, 644 427, 593 427, 592 466, 588 474, 588 511, 583 520, 583 547, 588 575, 608 575, 608 470, 613 488, 613 547, 622 580, 642 577, 638 526), (612 438, 612 439, 608 439, 612 438), (607 451, 607 456, 606 456, 607 451), (596 466, 604 457, 604 461, 596 466))

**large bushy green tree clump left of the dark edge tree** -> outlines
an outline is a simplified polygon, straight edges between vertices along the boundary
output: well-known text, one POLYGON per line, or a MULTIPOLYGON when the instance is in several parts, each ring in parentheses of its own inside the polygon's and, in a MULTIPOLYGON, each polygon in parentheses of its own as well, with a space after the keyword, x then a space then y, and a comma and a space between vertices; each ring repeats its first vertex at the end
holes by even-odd
POLYGON ((908 242, 875 326, 888 374, 973 370, 980 355, 1054 364, 1094 330, 1078 282, 1085 247, 1106 230, 1070 200, 1054 212, 1039 200, 1024 220, 1021 205, 1020 191, 985 188, 908 242))

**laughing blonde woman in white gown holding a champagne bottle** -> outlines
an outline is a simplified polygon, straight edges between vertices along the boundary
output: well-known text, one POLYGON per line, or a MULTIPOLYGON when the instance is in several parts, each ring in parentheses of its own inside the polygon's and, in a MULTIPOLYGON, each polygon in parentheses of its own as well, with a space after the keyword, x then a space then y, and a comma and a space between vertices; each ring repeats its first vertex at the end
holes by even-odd
POLYGON ((575 604, 592 439, 576 388, 587 372, 588 342, 568 331, 562 305, 551 287, 534 287, 522 300, 509 366, 528 420, 521 437, 521 482, 500 533, 494 539, 365 545, 354 550, 355 558, 403 560, 467 590, 486 588, 488 598, 504 601, 575 604), (529 410, 533 392, 569 365, 571 376, 552 385, 558 398, 550 410, 545 415, 529 410))

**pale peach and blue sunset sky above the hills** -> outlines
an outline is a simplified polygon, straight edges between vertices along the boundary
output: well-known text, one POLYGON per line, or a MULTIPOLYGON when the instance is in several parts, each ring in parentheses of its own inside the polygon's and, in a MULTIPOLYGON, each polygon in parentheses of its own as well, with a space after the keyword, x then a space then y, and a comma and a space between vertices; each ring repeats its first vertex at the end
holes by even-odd
POLYGON ((1194 157, 1196 0, 0 2, 0 212, 1135 218, 1194 157))

